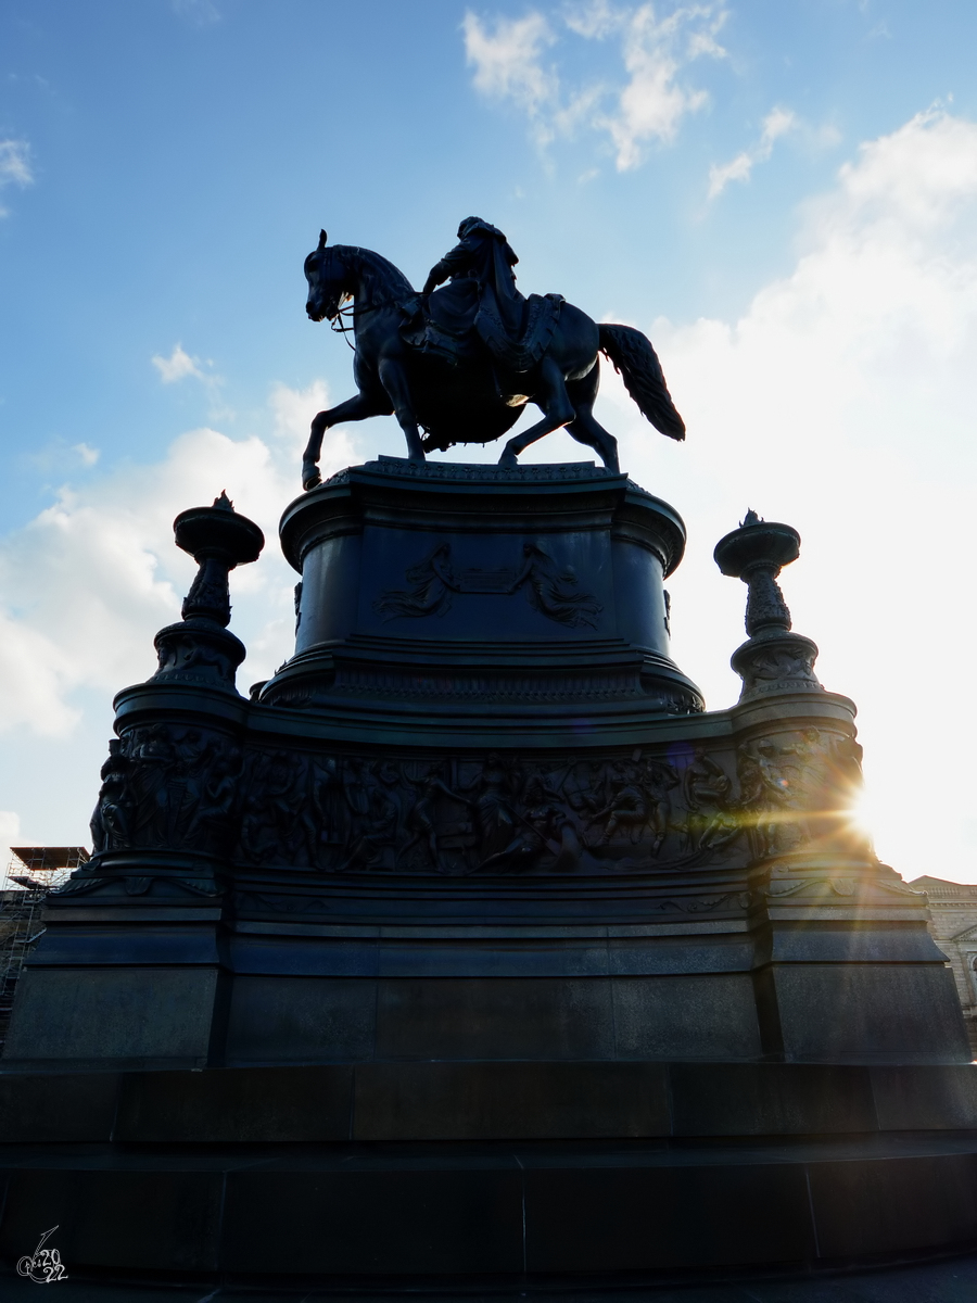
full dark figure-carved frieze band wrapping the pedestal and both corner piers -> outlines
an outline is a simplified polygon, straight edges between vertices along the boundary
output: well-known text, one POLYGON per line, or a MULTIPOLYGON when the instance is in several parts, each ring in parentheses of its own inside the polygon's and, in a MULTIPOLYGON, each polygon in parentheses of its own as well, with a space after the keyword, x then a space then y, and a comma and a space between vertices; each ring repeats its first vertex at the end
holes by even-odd
POLYGON ((860 748, 808 728, 735 753, 442 761, 241 751, 142 726, 109 747, 96 852, 201 851, 246 869, 408 876, 745 866, 848 838, 860 748), (731 764, 732 762, 732 764, 731 764), (832 840, 835 839, 835 840, 832 840))

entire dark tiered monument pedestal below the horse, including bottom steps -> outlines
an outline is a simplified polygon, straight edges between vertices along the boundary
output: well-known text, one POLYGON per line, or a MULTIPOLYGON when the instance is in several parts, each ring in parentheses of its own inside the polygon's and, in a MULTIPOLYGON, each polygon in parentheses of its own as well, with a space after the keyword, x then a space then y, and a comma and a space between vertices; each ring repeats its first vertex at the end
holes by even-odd
POLYGON ((977 1243, 977 1070, 844 816, 855 708, 784 633, 705 713, 683 543, 593 466, 288 508, 296 655, 117 698, 0 1071, 8 1261, 57 1224, 73 1274, 526 1294, 977 1243))

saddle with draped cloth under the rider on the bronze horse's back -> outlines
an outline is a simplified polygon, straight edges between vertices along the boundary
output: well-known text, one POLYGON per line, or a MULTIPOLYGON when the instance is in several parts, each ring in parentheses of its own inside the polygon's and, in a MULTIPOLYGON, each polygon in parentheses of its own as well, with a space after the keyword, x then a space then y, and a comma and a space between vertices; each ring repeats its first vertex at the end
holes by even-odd
POLYGON ((550 347, 560 321, 563 294, 530 294, 522 304, 518 337, 512 339, 491 300, 479 298, 468 278, 418 296, 413 314, 400 327, 410 348, 436 353, 453 365, 485 357, 505 373, 530 371, 550 347))

